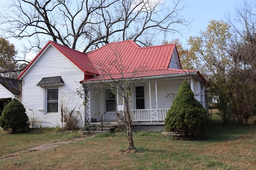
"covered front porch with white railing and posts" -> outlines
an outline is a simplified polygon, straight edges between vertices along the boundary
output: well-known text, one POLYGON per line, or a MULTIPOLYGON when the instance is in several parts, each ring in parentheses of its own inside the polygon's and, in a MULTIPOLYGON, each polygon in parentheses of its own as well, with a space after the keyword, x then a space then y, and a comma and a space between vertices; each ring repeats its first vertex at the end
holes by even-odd
MULTIPOLYGON (((129 110, 132 122, 164 123, 178 88, 184 80, 187 80, 187 76, 158 76, 131 82, 129 110)), ((110 83, 97 83, 87 84, 88 86, 84 84, 85 122, 116 121, 117 114, 125 109, 124 99, 120 94, 106 88, 110 83), (97 87, 97 89, 91 87, 97 87)), ((203 88, 200 80, 194 78, 191 84, 195 98, 204 105, 204 90, 201 90, 203 88)))

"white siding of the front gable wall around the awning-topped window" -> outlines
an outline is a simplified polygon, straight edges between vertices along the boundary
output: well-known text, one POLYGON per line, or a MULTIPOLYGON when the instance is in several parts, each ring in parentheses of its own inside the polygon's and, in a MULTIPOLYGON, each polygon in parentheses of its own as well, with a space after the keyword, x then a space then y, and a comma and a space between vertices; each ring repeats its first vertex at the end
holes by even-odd
POLYGON ((83 72, 58 50, 49 45, 22 78, 24 82, 22 103, 26 108, 31 122, 30 125, 32 125, 34 117, 34 127, 61 126, 60 109, 59 113, 46 113, 46 110, 44 110, 45 88, 36 86, 42 78, 52 76, 61 76, 64 81, 63 86, 58 86, 59 104, 60 99, 64 96, 63 99, 68 109, 76 108, 76 110, 83 113, 83 107, 80 107, 83 100, 76 95, 76 90, 82 90, 79 81, 83 79, 83 72))

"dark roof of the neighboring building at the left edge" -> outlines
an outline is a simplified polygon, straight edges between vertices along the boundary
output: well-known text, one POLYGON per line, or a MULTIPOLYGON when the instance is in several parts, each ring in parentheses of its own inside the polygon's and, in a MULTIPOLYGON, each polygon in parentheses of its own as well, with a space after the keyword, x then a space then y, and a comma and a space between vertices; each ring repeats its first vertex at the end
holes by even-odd
POLYGON ((19 96, 21 93, 20 92, 21 86, 22 86, 21 80, 0 76, 0 84, 15 96, 19 96))

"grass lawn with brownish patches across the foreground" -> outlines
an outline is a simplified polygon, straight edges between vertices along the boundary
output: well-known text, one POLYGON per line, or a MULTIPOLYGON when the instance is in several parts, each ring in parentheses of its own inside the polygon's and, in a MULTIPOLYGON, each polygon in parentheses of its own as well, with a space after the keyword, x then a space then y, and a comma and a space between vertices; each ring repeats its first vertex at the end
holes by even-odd
MULTIPOLYGON (((223 126, 218 119, 213 115, 212 130, 204 141, 174 140, 162 133, 142 131, 134 133, 136 149, 130 150, 125 133, 102 133, 48 150, 17 154, 0 161, 0 169, 254 170, 256 126, 223 126)), ((0 133, 2 156, 48 141, 79 136, 79 133, 46 132, 0 133)))

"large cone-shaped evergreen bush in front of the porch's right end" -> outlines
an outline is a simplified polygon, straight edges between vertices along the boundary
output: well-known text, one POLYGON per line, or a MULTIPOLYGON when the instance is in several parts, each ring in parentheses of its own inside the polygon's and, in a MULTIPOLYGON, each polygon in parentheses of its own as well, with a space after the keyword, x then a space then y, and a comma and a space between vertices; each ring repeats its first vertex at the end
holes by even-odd
POLYGON ((165 119, 166 131, 184 132, 200 137, 209 128, 206 109, 194 98, 188 82, 184 81, 165 119))

